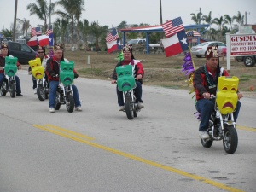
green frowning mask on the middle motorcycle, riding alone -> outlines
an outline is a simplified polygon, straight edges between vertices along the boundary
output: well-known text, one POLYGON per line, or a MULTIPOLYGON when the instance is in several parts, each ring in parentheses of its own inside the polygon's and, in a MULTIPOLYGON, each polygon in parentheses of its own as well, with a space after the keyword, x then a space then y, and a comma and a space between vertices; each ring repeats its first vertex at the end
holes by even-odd
POLYGON ((119 90, 127 91, 135 87, 136 84, 131 65, 116 67, 116 73, 118 76, 117 84, 119 90))

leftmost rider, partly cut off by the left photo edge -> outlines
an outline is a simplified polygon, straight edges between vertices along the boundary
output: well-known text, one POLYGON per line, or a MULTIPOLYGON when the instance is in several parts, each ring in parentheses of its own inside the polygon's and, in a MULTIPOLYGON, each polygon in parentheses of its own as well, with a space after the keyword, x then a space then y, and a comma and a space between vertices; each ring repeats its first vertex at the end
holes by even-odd
MULTIPOLYGON (((1 44, 1 55, 0 55, 0 87, 3 84, 3 80, 5 78, 3 67, 5 66, 5 57, 11 56, 8 52, 8 45, 3 43, 1 44)), ((21 69, 20 63, 17 61, 17 67, 18 69, 21 69)), ((16 81, 16 96, 23 96, 21 94, 21 87, 20 87, 20 79, 17 75, 15 75, 15 81, 16 81)))

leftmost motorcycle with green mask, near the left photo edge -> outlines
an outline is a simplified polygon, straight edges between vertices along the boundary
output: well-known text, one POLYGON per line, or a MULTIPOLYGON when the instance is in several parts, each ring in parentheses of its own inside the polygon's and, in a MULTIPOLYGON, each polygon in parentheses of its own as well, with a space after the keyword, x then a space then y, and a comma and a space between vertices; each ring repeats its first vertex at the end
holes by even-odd
POLYGON ((17 57, 5 57, 5 66, 3 67, 5 78, 3 79, 3 84, 0 88, 1 96, 6 96, 7 92, 10 93, 10 96, 12 98, 16 96, 15 73, 18 70, 17 61, 17 57))

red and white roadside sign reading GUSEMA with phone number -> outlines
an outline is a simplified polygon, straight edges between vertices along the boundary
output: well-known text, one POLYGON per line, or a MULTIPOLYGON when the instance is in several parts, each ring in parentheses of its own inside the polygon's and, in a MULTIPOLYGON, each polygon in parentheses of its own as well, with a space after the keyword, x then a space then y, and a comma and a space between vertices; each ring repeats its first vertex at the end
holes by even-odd
POLYGON ((256 55, 256 34, 230 35, 230 55, 256 55))

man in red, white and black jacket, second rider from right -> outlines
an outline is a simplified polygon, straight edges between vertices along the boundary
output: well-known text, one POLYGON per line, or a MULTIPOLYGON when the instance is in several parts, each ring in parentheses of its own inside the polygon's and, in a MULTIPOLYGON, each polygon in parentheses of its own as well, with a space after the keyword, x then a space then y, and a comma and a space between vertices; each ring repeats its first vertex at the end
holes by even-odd
MULTIPOLYGON (((144 75, 144 69, 143 69, 143 64, 136 60, 132 54, 132 48, 129 45, 125 45, 123 48, 123 56, 124 60, 119 61, 118 64, 114 67, 113 70, 113 75, 112 75, 112 81, 111 84, 116 84, 117 81, 117 73, 115 68, 119 66, 124 66, 124 65, 132 65, 135 67, 135 79, 136 79, 136 88, 135 88, 135 96, 137 98, 137 105, 139 108, 144 108, 143 105, 143 75, 144 75)), ((118 104, 119 104, 119 111, 124 111, 124 98, 123 98, 123 92, 118 90, 118 87, 116 88, 117 96, 118 96, 118 104)))

